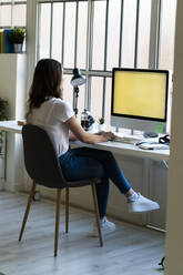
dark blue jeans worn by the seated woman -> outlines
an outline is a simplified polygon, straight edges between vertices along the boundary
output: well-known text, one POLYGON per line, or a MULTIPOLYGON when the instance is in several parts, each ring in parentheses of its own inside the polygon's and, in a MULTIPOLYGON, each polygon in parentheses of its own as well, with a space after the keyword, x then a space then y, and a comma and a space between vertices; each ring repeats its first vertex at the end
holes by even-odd
POLYGON ((68 181, 100 177, 96 184, 96 196, 100 216, 106 214, 109 197, 109 179, 116 185, 121 193, 126 193, 131 186, 110 151, 78 147, 69 149, 59 157, 63 174, 68 181))

